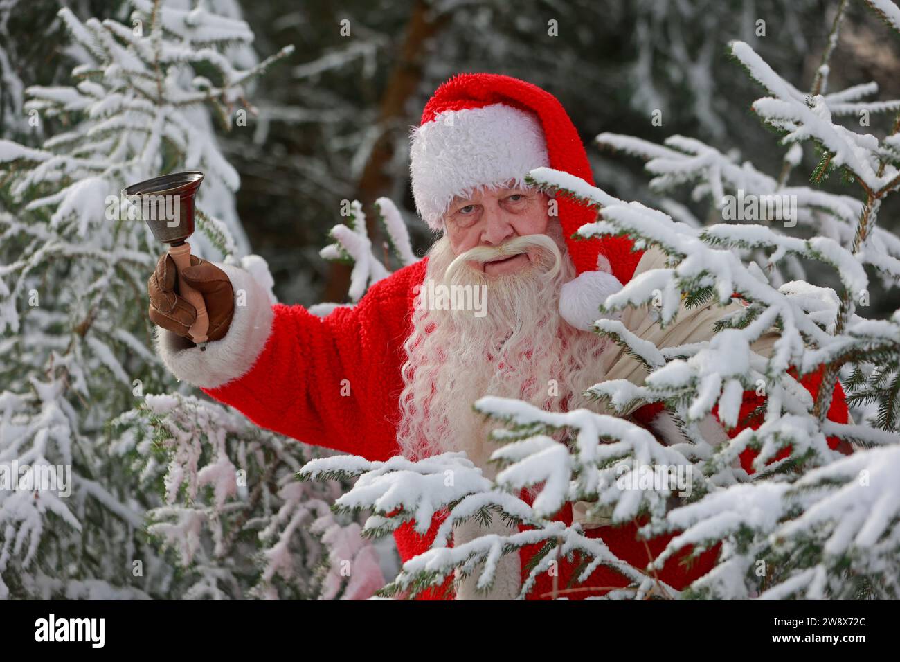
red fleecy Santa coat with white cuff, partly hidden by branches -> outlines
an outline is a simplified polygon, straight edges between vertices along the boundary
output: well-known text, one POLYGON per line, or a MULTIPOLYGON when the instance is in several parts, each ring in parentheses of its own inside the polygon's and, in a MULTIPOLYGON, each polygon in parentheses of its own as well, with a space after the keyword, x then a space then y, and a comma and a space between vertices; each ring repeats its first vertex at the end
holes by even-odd
MULTIPOLYGON (((355 306, 339 307, 326 317, 300 305, 270 306, 246 272, 225 266, 236 292, 256 288, 247 294, 247 305, 236 308, 228 336, 211 343, 202 357, 197 349, 179 348, 178 338, 168 332, 160 337, 158 349, 177 376, 200 385, 206 394, 237 408, 261 427, 315 446, 386 460, 399 452, 395 422, 400 416, 403 388, 403 342, 411 330, 416 286, 423 282, 426 266, 427 259, 423 259, 401 268, 372 286, 355 306)), ((806 380, 811 392, 817 388, 814 382, 815 377, 806 380)), ((846 422, 840 385, 835 391, 830 417, 846 422)), ((757 396, 748 392, 742 416, 758 404, 757 396)), ((657 412, 658 408, 645 407, 635 418, 650 422, 657 412)), ((738 431, 740 428, 730 434, 738 431)), ((832 448, 837 441, 830 440, 832 448)), ((741 458, 748 471, 753 457, 752 452, 745 452, 741 458)), ((522 497, 527 499, 527 494, 522 497)), ((401 559, 406 561, 428 549, 443 519, 443 514, 436 515, 424 537, 413 531, 410 522, 395 531, 401 559)), ((567 503, 554 519, 571 523, 572 504, 567 503)), ((675 535, 637 540, 635 531, 643 523, 603 526, 588 529, 586 534, 602 538, 618 558, 643 569, 675 535)), ((540 548, 536 544, 520 550, 523 579, 528 559, 540 548)), ((662 581, 682 589, 715 566, 718 546, 688 565, 690 551, 686 548, 669 560, 659 574, 662 581)), ((557 586, 562 595, 581 599, 628 584, 625 577, 601 566, 585 582, 567 589, 578 565, 578 558, 561 562, 557 586)), ((550 576, 541 576, 529 599, 549 598, 553 581, 550 576)), ((451 584, 452 576, 448 576, 440 589, 420 597, 452 597, 451 584)))

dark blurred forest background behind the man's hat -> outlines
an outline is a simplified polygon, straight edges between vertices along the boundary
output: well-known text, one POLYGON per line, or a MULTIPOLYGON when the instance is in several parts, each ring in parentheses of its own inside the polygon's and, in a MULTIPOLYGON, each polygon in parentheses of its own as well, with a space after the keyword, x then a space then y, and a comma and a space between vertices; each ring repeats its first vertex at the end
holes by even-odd
MULTIPOLYGON (((837 2, 215 0, 213 5, 218 13, 242 16, 256 33, 255 48, 241 54, 247 61, 295 46, 290 58, 257 82, 252 94, 257 116, 222 132, 221 140, 241 177, 242 249, 266 258, 282 302, 310 305, 345 300, 348 269, 319 255, 329 243, 329 229, 341 222, 342 200, 360 200, 372 221, 375 198, 391 197, 406 215, 417 252, 428 248, 432 237, 417 222, 410 195, 408 139, 429 95, 446 78, 493 72, 544 87, 581 132, 599 186, 626 200, 656 204, 643 164, 603 153, 593 138, 616 131, 662 142, 678 133, 733 152, 739 162, 752 160, 777 177, 785 150, 749 110, 761 89, 725 57, 725 45, 747 41, 782 76, 809 89, 837 2), (758 36, 760 21, 764 35, 758 36), (654 110, 662 111, 661 126, 652 123, 654 110)), ((127 7, 112 1, 0 0, 2 138, 39 144, 44 129, 24 122, 23 87, 68 82, 77 53, 56 17, 60 6, 82 18, 128 23, 127 7)), ((880 88, 877 98, 900 97, 897 45, 876 17, 851 3, 828 89, 873 80, 880 88)), ((871 127, 862 131, 883 135, 893 119, 893 113, 873 115, 871 127)), ((847 125, 857 123, 851 117, 847 125)), ((806 148, 789 183, 801 183, 816 161, 806 148)), ((856 195, 839 177, 822 186, 856 195)), ((677 202, 703 219, 707 204, 691 201, 685 190, 677 202)), ((894 200, 882 209, 879 224, 896 230, 896 219, 894 200)), ((376 236, 377 229, 372 231, 376 236)), ((893 310, 879 304, 874 293, 872 304, 893 310)))

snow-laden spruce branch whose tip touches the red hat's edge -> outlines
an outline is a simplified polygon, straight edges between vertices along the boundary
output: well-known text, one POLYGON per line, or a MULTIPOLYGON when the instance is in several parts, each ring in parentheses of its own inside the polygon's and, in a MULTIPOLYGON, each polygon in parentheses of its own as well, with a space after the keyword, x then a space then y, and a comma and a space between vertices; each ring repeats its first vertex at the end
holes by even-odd
MULTIPOLYGON (((849 251, 832 240, 798 240, 756 225, 693 228, 685 223, 675 222, 668 215, 642 204, 624 204, 620 201, 617 201, 618 204, 608 204, 611 196, 568 173, 536 168, 529 177, 546 190, 567 192, 585 204, 601 206, 603 220, 583 225, 579 230, 582 237, 627 234, 633 239, 644 240, 647 245, 660 246, 673 261, 678 261, 674 268, 647 271, 630 281, 617 294, 608 297, 602 307, 603 313, 651 303, 656 293, 662 292, 661 323, 665 325, 674 321, 679 310, 676 303, 683 293, 705 287, 716 293, 720 304, 729 303, 736 293, 751 304, 752 312, 760 313, 764 309, 765 313, 743 329, 730 334, 728 337, 732 344, 723 349, 731 357, 730 360, 746 357, 740 359, 741 363, 750 365, 751 358, 747 355, 750 344, 759 340, 771 325, 778 323, 781 337, 776 341, 765 368, 765 376, 770 382, 779 381, 778 376, 783 376, 791 365, 803 363, 807 341, 825 346, 833 342, 833 337, 806 314, 802 300, 761 282, 758 274, 746 267, 730 248, 764 247, 776 255, 793 252, 833 265, 851 291, 859 292, 868 286, 865 272, 859 263, 849 251), (716 245, 726 248, 714 248, 716 245), (666 305, 665 302, 669 300, 672 303, 666 305)), ((725 339, 722 340, 724 341, 725 339)), ((710 374, 717 374, 716 369, 707 368, 707 373, 699 368, 717 365, 707 358, 710 351, 712 349, 704 349, 695 354, 692 367, 686 365, 684 368, 675 368, 670 364, 663 368, 667 371, 664 373, 666 378, 669 379, 668 376, 671 375, 674 379, 669 385, 681 384, 686 387, 691 383, 702 383, 710 374), (675 376, 675 369, 683 370, 680 376, 675 376), (680 381, 682 379, 684 381, 680 381)), ((673 363, 680 365, 678 362, 673 363)), ((663 376, 658 379, 663 379, 663 376)))

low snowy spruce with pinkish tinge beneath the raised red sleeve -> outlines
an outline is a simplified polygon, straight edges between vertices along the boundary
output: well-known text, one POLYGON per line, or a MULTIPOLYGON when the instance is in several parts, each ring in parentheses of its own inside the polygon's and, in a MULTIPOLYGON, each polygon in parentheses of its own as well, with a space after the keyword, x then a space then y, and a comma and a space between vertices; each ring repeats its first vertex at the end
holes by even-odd
POLYGON ((113 422, 112 457, 135 468, 133 489, 163 503, 147 532, 188 571, 189 599, 367 598, 384 583, 379 558, 331 503, 346 486, 302 484, 295 440, 181 394, 148 395, 113 422))

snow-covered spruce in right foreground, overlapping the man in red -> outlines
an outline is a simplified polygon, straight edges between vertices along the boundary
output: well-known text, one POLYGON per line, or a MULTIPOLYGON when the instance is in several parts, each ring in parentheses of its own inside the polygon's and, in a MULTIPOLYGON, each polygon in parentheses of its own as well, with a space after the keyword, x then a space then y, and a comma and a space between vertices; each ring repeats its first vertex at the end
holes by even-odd
MULTIPOLYGON (((867 4, 900 32, 895 4, 867 4)), ((609 598, 900 595, 900 311, 887 319, 862 315, 870 275, 887 292, 900 279, 900 240, 877 226, 881 204, 900 188, 900 122, 891 122, 881 138, 838 122, 865 117, 860 126, 866 128, 869 115, 900 117, 900 102, 865 101, 877 91, 874 83, 827 90, 846 6, 838 7, 809 94, 747 43, 730 45, 766 91, 753 112, 788 148, 778 177, 682 136, 663 145, 598 136, 604 147, 644 158, 657 192, 692 185, 694 199, 710 205, 710 224, 674 201, 666 201, 665 213, 568 173, 530 173, 532 184, 598 210, 598 220, 579 231, 583 238, 628 235, 638 249, 659 256, 656 268, 608 297, 598 310, 603 319, 594 324, 616 343, 619 360, 636 361, 644 375, 636 382, 618 378, 614 364, 589 390, 597 411, 547 412, 505 398, 479 400, 476 411, 503 423, 491 434, 499 445, 491 456, 500 467, 494 480, 464 453, 417 462, 320 458, 303 467, 299 476, 306 480, 356 478, 336 505, 372 511, 368 535, 408 521, 425 533, 435 513, 448 512, 431 549, 407 561, 385 594, 418 594, 452 573, 474 575, 478 587, 488 589, 503 555, 543 543, 522 597, 554 561, 576 553, 579 581, 599 565, 630 581, 609 598), (788 186, 804 143, 819 153, 814 184, 840 170, 861 195, 788 186), (808 282, 807 272, 836 289, 808 282), (710 305, 718 322, 709 340, 653 340, 710 305), (653 331, 637 334, 635 321, 648 318, 653 331), (812 390, 804 387, 810 380, 812 390), (854 405, 846 423, 827 418, 839 382, 854 405), (748 399, 748 392, 756 397, 748 399), (666 443, 627 420, 648 404, 665 408, 680 441, 666 443), (711 415, 721 427, 705 424, 711 415), (739 460, 748 457, 744 466, 739 460), (665 482, 644 485, 647 467, 683 470, 689 493, 677 494, 665 482), (632 478, 637 489, 623 486, 632 478), (533 503, 520 498, 523 489, 536 492, 533 503), (580 521, 553 521, 566 502, 587 503, 581 521, 643 518, 646 537, 679 534, 650 567, 633 567, 602 540, 586 537, 580 521), (448 547, 455 524, 483 521, 491 511, 528 528, 448 547), (720 551, 716 567, 679 592, 655 571, 686 544, 695 554, 716 545, 720 551)))

